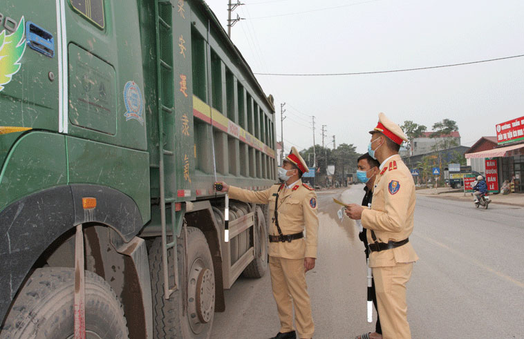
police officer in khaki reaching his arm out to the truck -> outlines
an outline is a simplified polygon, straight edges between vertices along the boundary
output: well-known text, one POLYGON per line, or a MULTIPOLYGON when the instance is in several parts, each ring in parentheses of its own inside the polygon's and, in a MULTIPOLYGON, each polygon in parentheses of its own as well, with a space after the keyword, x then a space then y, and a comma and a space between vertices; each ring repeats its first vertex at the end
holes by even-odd
POLYGON ((255 204, 269 204, 271 286, 280 319, 280 331, 272 339, 294 339, 293 305, 298 338, 312 338, 315 326, 307 291, 306 271, 315 267, 317 258, 317 194, 303 184, 301 177, 308 166, 292 147, 279 168, 282 184, 264 191, 250 191, 221 182, 230 198, 255 204), (306 238, 303 231, 306 230, 306 238))

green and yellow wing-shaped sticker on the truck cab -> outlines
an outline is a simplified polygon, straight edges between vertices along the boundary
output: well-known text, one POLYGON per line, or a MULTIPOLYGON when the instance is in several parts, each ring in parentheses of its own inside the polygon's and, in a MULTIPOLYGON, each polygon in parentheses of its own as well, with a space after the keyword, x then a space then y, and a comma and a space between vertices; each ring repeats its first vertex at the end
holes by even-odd
MULTIPOLYGON (((0 18, 5 21, 3 14, 0 18)), ((0 92, 21 68, 20 59, 26 51, 25 28, 26 24, 22 17, 15 32, 8 34, 8 30, 4 29, 0 33, 0 92)))

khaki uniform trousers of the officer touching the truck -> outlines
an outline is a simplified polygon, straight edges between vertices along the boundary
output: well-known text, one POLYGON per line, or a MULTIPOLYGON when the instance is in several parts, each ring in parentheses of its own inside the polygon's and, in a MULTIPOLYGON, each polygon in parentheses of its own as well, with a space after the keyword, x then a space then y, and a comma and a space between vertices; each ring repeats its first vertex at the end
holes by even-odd
POLYGON ((312 338, 315 332, 311 316, 311 302, 306 284, 303 259, 286 259, 270 256, 271 287, 280 319, 280 332, 294 331, 298 338, 312 338))

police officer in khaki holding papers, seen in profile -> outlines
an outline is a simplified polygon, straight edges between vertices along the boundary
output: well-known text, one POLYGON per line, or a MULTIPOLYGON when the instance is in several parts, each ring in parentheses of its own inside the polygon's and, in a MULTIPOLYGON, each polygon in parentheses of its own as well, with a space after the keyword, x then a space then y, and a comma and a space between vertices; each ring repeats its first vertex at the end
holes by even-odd
POLYGON ((350 204, 346 213, 361 219, 368 229, 378 312, 384 339, 411 338, 407 320, 406 283, 418 257, 409 242, 413 231, 415 183, 398 150, 407 141, 402 129, 380 113, 371 130, 368 153, 380 162, 375 177, 373 202, 367 206, 350 204))

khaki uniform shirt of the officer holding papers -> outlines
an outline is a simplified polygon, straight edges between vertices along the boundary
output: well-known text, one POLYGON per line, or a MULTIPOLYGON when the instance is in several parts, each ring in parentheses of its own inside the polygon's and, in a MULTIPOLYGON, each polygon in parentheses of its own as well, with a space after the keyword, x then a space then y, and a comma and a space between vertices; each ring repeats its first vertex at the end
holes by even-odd
MULTIPOLYGON (((400 241, 413 232, 415 182, 400 155, 389 157, 375 178, 371 209, 362 211, 362 226, 375 232, 378 242, 400 241)), ((368 242, 374 242, 368 232, 368 242)), ((418 256, 411 242, 369 255, 370 267, 391 267, 398 262, 415 262, 418 256)))

